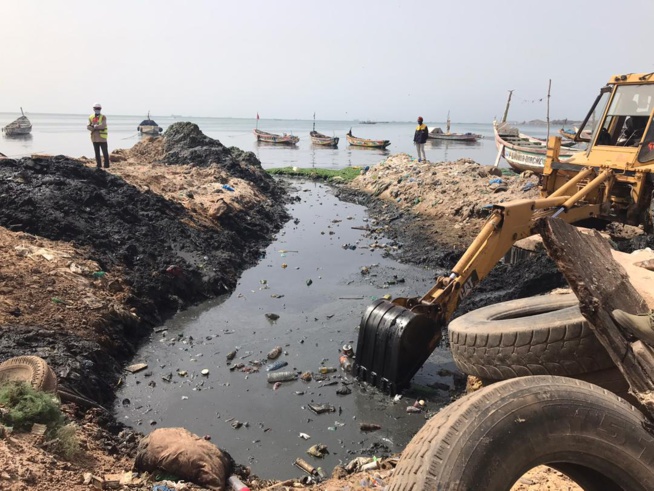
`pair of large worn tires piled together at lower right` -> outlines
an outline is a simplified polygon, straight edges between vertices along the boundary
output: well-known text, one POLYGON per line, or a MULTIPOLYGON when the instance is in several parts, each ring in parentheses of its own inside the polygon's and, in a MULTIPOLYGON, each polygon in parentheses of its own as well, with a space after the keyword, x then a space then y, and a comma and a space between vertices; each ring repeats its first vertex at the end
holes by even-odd
POLYGON ((574 295, 491 305, 449 325, 457 366, 487 387, 431 418, 390 489, 506 491, 539 465, 584 490, 654 489, 648 419, 601 383, 626 382, 574 295))

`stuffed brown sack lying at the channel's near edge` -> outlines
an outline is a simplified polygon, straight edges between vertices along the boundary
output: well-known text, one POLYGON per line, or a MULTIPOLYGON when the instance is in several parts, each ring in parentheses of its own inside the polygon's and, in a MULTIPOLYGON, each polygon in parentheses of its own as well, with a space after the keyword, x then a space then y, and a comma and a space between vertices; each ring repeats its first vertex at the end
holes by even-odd
POLYGON ((234 461, 213 443, 184 428, 159 428, 138 446, 137 471, 164 471, 208 489, 225 491, 234 461))

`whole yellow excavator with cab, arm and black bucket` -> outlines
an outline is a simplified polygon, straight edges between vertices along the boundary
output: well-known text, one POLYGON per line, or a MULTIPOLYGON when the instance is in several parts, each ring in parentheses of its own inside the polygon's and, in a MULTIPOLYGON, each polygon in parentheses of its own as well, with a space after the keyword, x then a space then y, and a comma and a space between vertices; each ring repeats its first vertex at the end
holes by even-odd
POLYGON ((462 298, 540 218, 618 221, 654 229, 654 73, 616 75, 592 105, 575 141, 587 149, 560 159, 548 141, 540 198, 494 205, 477 238, 448 276, 422 297, 378 300, 361 319, 354 373, 394 394, 439 344, 462 298), (596 123, 597 122, 597 123, 596 123), (590 135, 590 136, 588 136, 590 135))

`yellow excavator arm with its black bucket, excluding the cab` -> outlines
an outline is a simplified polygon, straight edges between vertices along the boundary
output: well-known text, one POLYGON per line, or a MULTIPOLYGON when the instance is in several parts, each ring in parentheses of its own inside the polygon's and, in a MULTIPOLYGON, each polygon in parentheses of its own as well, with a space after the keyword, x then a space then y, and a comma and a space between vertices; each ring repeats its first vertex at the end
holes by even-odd
POLYGON ((452 268, 439 276, 423 297, 378 300, 363 314, 359 327, 355 374, 380 389, 396 393, 409 384, 438 346, 461 299, 493 269, 513 244, 534 235, 536 222, 559 216, 569 223, 597 216, 600 204, 578 204, 611 179, 606 169, 586 168, 546 198, 494 205, 491 216, 452 268), (579 188, 581 181, 586 184, 579 188), (576 190, 574 194, 571 192, 576 190))

